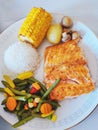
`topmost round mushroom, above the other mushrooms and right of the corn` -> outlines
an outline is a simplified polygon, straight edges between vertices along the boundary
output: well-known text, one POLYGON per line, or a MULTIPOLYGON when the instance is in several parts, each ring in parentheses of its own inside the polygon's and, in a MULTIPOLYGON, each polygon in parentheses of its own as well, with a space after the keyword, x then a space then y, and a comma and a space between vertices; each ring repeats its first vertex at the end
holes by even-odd
POLYGON ((69 16, 64 16, 61 20, 61 25, 66 28, 70 28, 73 25, 73 21, 69 16))

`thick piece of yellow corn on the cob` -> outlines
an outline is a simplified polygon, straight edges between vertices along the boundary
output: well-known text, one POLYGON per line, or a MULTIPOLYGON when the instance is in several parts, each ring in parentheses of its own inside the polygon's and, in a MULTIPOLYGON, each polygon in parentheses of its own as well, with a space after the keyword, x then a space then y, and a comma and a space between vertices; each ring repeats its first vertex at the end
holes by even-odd
POLYGON ((32 8, 20 28, 18 38, 38 47, 51 24, 52 16, 42 8, 32 8))

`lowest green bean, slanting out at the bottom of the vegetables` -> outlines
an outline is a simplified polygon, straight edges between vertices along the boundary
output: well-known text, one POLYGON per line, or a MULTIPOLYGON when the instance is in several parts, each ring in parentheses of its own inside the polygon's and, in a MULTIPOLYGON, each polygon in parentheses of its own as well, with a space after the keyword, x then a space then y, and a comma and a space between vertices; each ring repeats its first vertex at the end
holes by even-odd
POLYGON ((35 117, 39 117, 39 118, 40 118, 41 115, 40 115, 40 114, 36 114, 36 113, 34 114, 34 113, 33 113, 31 116, 28 116, 28 117, 24 118, 23 120, 18 121, 17 123, 15 123, 14 125, 12 125, 12 127, 14 127, 14 128, 19 127, 19 126, 25 124, 26 122, 32 120, 32 119, 35 118, 35 117))

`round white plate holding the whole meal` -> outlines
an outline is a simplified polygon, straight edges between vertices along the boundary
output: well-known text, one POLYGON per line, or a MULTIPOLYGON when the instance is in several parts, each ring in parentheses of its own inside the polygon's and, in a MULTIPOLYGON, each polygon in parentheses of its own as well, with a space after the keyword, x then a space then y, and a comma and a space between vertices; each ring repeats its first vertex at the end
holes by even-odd
MULTIPOLYGON (((62 15, 53 14, 54 22, 60 22, 62 15)), ((24 19, 23 19, 24 20, 24 19)), ((0 81, 2 80, 3 74, 11 73, 4 66, 3 58, 4 51, 8 48, 9 45, 18 41, 17 34, 19 28, 23 22, 20 20, 10 26, 7 30, 5 30, 0 36, 0 81)), ((88 66, 90 68, 90 72, 93 80, 96 82, 95 91, 91 92, 87 95, 82 95, 78 98, 67 99, 61 102, 61 107, 56 111, 57 113, 57 121, 55 123, 45 120, 45 119, 33 119, 21 126, 20 128, 23 130, 63 130, 82 121, 85 117, 87 117, 92 110, 96 107, 98 103, 98 40, 93 32, 86 27, 84 24, 80 22, 74 23, 74 30, 78 30, 81 32, 83 37, 80 46, 83 48, 85 56, 88 60, 88 66)), ((41 54, 41 58, 43 59, 44 48, 49 45, 47 40, 44 40, 42 45, 39 47, 38 51, 41 54)), ((37 71, 36 77, 39 80, 43 79, 43 60, 41 65, 37 71)), ((2 84, 0 83, 0 87, 2 84)), ((0 93, 0 102, 3 100, 3 95, 0 93)), ((10 124, 14 124, 17 121, 17 118, 13 114, 6 113, 3 110, 3 107, 0 106, 0 115, 10 124)))

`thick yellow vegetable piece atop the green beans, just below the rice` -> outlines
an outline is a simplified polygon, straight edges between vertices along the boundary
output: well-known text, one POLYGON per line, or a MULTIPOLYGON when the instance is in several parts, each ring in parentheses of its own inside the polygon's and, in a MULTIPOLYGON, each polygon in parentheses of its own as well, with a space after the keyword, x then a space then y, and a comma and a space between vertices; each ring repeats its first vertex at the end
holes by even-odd
POLYGON ((32 76, 33 76, 32 71, 26 71, 26 72, 23 72, 21 74, 18 74, 17 78, 20 79, 20 80, 24 80, 24 79, 28 79, 28 78, 30 78, 32 76))

